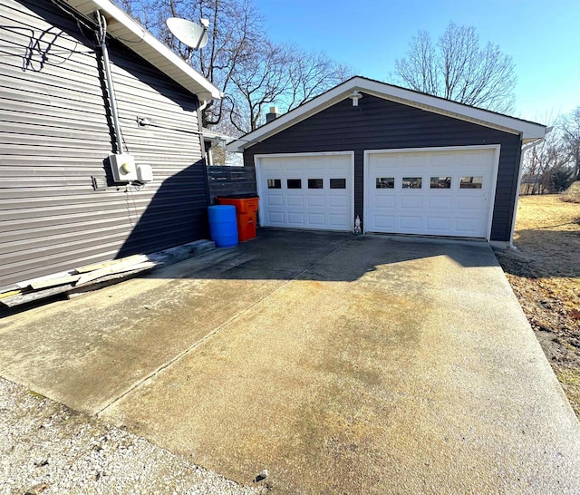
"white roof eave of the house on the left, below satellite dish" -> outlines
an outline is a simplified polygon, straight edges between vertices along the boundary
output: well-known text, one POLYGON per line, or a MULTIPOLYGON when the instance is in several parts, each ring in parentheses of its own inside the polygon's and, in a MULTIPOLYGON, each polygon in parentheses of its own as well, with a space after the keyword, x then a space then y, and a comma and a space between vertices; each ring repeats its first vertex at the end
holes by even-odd
POLYGON ((175 82, 179 82, 189 92, 197 94, 199 100, 218 100, 223 96, 216 86, 110 0, 63 0, 63 2, 91 21, 93 13, 96 10, 101 11, 107 19, 107 34, 139 54, 162 73, 166 73, 175 82))

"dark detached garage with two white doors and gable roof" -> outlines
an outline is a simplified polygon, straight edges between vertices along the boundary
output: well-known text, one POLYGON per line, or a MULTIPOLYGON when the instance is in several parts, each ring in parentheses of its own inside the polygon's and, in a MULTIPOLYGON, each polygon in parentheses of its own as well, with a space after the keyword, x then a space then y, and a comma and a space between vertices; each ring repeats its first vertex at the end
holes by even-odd
POLYGON ((546 127, 353 77, 228 145, 263 227, 511 239, 521 148, 546 127))

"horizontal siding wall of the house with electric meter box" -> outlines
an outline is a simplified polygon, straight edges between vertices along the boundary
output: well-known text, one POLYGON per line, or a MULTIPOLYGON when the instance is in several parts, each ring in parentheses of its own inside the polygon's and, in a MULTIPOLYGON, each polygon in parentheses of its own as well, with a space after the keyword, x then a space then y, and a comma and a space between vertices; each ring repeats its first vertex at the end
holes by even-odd
POLYGON ((0 23, 0 286, 206 237, 195 95, 110 40, 123 141, 155 178, 114 186, 91 30, 37 0, 4 0, 0 23), (93 189, 92 177, 108 187, 93 189))

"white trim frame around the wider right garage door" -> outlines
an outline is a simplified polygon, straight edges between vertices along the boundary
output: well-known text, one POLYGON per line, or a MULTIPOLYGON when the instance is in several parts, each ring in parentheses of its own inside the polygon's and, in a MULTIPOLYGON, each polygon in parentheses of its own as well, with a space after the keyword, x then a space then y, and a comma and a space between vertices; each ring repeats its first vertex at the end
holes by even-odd
POLYGON ((362 159, 362 233, 366 233, 367 226, 367 208, 368 204, 368 190, 366 187, 367 178, 369 174, 369 156, 373 154, 385 154, 385 153, 417 153, 417 152, 430 152, 430 151, 467 151, 467 150, 494 150, 494 159, 491 170, 491 189, 489 190, 489 207, 488 207, 488 225, 486 228, 486 240, 489 241, 491 238, 491 224, 493 222, 493 212, 496 206, 496 189, 498 187, 498 167, 499 167, 499 156, 501 152, 501 146, 499 144, 488 144, 488 145, 474 145, 474 146, 440 146, 440 147, 429 147, 429 148, 394 148, 389 150, 364 150, 362 159))

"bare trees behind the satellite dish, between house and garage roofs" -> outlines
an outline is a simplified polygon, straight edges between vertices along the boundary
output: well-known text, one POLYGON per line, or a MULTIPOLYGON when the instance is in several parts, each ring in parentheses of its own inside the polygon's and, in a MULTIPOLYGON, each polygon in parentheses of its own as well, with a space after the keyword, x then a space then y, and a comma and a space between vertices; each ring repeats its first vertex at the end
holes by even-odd
POLYGON ((252 0, 116 1, 225 94, 206 102, 206 127, 253 131, 267 104, 291 110, 350 76, 324 53, 273 44, 252 0), (208 44, 198 51, 181 44, 165 24, 170 16, 208 19, 208 44))

